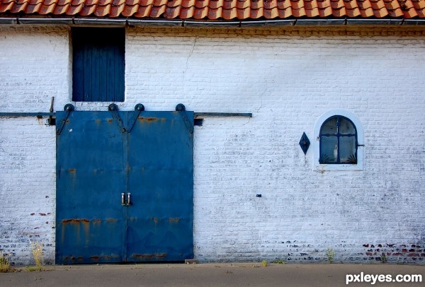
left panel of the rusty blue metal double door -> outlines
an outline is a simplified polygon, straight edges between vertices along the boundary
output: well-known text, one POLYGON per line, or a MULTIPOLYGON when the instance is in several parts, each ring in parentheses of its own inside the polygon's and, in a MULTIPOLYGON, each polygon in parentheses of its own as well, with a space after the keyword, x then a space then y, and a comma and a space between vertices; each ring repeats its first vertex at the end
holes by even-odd
POLYGON ((71 112, 57 136, 57 264, 123 261, 123 139, 108 112, 71 112))

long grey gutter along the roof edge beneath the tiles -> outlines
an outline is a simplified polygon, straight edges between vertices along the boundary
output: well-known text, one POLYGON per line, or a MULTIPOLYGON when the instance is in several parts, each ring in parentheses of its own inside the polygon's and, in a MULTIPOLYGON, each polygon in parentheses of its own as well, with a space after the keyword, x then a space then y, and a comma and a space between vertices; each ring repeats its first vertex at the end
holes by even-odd
POLYGON ((425 25, 425 19, 280 19, 261 21, 186 21, 111 18, 1 18, 0 25, 143 25, 181 27, 266 27, 266 26, 329 26, 329 25, 425 25))

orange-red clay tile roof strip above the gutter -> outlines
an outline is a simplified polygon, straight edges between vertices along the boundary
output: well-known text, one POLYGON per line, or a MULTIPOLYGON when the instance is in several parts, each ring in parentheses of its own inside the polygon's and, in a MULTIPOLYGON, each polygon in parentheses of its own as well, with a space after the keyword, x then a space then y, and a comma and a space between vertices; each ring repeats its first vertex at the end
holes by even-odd
POLYGON ((0 0, 0 13, 101 18, 425 18, 425 0, 0 0))

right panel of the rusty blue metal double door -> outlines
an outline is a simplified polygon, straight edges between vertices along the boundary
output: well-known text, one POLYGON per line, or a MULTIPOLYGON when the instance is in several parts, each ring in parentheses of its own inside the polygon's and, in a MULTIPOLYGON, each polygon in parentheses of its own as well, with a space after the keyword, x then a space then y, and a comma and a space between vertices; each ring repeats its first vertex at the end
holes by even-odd
POLYGON ((193 258, 193 133, 179 112, 142 112, 128 145, 128 261, 193 258))

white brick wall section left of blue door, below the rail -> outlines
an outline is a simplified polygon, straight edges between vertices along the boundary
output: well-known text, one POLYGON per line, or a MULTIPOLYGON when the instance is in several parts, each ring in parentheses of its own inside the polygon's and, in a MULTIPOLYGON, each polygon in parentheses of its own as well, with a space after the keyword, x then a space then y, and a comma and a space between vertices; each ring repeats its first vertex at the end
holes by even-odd
POLYGON ((30 241, 55 262, 55 127, 36 118, 0 118, 0 250, 34 264, 30 241))

